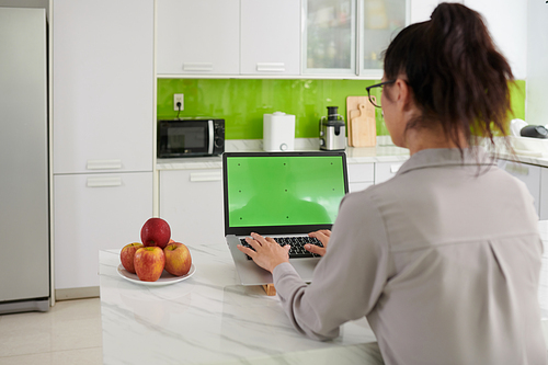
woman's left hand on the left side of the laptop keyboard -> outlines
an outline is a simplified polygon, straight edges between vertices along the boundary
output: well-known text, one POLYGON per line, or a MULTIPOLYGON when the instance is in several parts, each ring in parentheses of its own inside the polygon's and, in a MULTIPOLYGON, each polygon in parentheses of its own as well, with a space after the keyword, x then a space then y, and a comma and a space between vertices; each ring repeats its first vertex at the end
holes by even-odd
POLYGON ((282 247, 273 238, 262 237, 255 232, 251 233, 251 238, 246 237, 246 241, 254 251, 241 244, 238 244, 238 250, 248 254, 259 266, 271 273, 281 263, 289 262, 289 244, 282 247))

